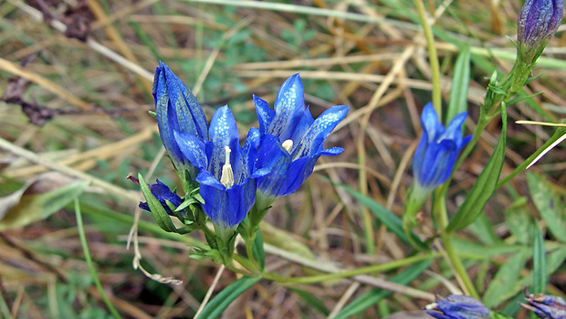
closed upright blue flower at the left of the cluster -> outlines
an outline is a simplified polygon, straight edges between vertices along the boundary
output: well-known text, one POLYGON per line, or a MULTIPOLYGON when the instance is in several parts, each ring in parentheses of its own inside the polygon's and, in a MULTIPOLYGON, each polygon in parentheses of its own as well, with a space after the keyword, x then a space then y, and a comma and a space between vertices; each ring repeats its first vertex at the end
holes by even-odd
MULTIPOLYGON (((181 152, 173 132, 192 134, 200 140, 208 140, 204 111, 193 92, 162 61, 155 69, 152 94, 163 146, 171 156, 175 169, 184 168, 194 178, 196 170, 181 152)), ((184 178, 184 172, 179 175, 184 178)))

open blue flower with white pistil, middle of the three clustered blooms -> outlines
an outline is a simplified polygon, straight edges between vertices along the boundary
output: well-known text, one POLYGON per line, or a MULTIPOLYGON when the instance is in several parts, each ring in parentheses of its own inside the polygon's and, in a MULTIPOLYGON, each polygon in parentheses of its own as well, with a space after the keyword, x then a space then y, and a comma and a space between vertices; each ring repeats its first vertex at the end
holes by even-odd
POLYGON ((223 229, 242 222, 256 201, 255 179, 269 172, 254 170, 258 130, 250 130, 244 147, 240 146, 234 115, 225 105, 210 122, 210 139, 182 131, 173 131, 173 135, 181 154, 199 169, 196 181, 206 216, 223 229))

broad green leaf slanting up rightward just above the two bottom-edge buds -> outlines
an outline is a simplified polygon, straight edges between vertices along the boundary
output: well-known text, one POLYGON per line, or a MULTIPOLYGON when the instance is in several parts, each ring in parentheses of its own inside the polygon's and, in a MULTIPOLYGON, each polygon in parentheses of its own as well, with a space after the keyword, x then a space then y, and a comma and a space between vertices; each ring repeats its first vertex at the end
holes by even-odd
POLYGON ((529 250, 519 250, 499 268, 493 280, 489 282, 486 293, 484 293, 483 302, 487 308, 493 308, 499 303, 503 303, 523 289, 519 275, 529 257, 529 250))

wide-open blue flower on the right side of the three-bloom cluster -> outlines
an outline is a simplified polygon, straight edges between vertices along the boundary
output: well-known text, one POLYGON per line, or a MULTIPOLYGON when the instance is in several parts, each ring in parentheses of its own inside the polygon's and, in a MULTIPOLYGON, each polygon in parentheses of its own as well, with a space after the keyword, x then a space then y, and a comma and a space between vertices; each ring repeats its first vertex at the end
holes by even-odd
POLYGON ((305 109, 299 74, 281 85, 275 111, 255 95, 254 103, 261 132, 257 168, 271 169, 271 173, 257 180, 257 189, 263 197, 283 197, 296 192, 312 174, 321 155, 342 153, 341 147, 325 150, 322 144, 346 116, 348 106, 333 106, 314 120, 309 108, 305 109))

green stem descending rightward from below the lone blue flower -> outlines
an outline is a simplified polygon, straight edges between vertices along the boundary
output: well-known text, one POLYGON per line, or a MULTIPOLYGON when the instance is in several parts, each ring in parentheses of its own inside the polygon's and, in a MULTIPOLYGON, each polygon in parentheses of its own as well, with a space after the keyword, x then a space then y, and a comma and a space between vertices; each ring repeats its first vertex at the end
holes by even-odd
POLYGON ((435 217, 436 227, 440 231, 440 238, 444 245, 446 255, 448 259, 454 266, 454 270, 457 275, 462 279, 467 292, 474 298, 479 299, 479 294, 477 294, 476 287, 474 283, 470 280, 466 267, 457 255, 454 245, 452 243, 452 232, 445 231, 448 225, 448 213, 446 212, 446 196, 443 192, 443 187, 435 190, 435 197, 433 198, 433 215, 435 217))

